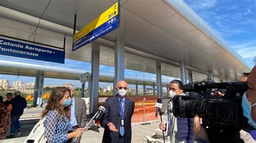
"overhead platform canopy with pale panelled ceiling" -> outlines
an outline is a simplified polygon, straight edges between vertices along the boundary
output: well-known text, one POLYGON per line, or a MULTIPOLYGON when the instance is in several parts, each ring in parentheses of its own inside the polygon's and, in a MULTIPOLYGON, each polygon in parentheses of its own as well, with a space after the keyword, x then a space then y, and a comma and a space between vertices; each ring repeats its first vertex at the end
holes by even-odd
MULTIPOLYGON (((6 12, 0 8, 1 34, 27 39, 35 30, 38 18, 49 1, 2 0, 0 5, 18 11, 6 12), (19 13, 21 12, 21 13, 19 13), (1 14, 2 13, 2 14, 1 14), (24 13, 24 14, 22 14, 24 13), (17 15, 15 17, 14 15, 17 15), (26 16, 29 20, 24 20, 26 16), (21 17, 21 19, 18 19, 21 17), (14 22, 14 21, 16 22, 14 22), (29 25, 34 27, 31 28, 29 25)), ((111 5, 112 1, 105 0, 58 0, 51 1, 45 11, 41 24, 36 31, 35 41, 44 44, 63 46, 63 34, 72 35, 73 19, 77 14, 77 29, 89 24, 100 13, 111 5), (51 22, 48 26, 61 26, 50 30, 43 25, 44 21, 51 22), (68 28, 67 28, 68 27, 68 28), (45 29, 45 30, 42 30, 45 29), (64 30, 65 29, 65 30, 64 30)), ((187 68, 207 74, 213 70, 215 76, 228 76, 237 80, 241 73, 250 71, 250 66, 228 46, 219 35, 196 15, 183 1, 122 1, 121 26, 125 37, 125 68, 146 73, 156 73, 156 61, 169 64, 162 66, 162 74, 179 77, 178 62, 184 60, 187 68), (144 58, 143 58, 144 57, 144 58), (173 66, 170 66, 173 65, 173 66)), ((46 23, 45 22, 45 23, 46 23)), ((33 40, 31 36, 30 40, 33 40)), ((100 64, 114 66, 115 32, 104 35, 96 40, 100 46, 100 64)), ((91 61, 92 44, 72 52, 72 38, 67 37, 67 59, 91 61)))

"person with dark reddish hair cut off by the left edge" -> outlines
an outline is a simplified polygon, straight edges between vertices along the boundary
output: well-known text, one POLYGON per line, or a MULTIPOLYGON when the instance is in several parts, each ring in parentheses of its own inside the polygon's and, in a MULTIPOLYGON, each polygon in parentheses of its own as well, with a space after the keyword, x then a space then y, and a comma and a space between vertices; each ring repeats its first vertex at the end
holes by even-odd
POLYGON ((4 139, 6 131, 11 125, 11 113, 6 106, 0 103, 0 142, 4 139))

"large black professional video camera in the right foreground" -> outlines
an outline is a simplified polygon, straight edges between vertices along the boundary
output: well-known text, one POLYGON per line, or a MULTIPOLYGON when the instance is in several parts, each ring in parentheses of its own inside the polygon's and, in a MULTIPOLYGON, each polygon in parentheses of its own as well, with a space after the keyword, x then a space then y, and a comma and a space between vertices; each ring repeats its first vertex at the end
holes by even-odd
POLYGON ((181 89, 196 92, 198 96, 174 96, 175 117, 193 118, 199 115, 203 118, 203 125, 208 127, 206 131, 211 142, 230 142, 230 138, 239 136, 239 131, 247 122, 241 106, 241 95, 247 90, 245 82, 198 82, 185 84, 181 89))

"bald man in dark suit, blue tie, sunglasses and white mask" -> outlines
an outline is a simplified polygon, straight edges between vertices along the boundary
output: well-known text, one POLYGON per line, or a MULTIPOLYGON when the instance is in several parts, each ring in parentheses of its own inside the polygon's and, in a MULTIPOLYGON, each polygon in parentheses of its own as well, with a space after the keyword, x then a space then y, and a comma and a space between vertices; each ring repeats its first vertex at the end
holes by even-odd
POLYGON ((127 83, 119 81, 116 85, 116 96, 106 99, 106 111, 101 120, 105 128, 102 142, 131 142, 132 128, 131 119, 134 110, 134 102, 125 97, 127 83))

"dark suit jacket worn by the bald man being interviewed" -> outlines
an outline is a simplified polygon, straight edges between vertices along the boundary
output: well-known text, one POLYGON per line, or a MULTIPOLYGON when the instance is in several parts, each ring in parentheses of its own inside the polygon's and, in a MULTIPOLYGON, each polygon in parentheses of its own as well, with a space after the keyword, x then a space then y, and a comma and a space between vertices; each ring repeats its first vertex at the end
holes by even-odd
MULTIPOLYGON (((125 107, 124 107, 124 140, 126 143, 131 142, 132 139, 132 128, 131 119, 134 110, 134 102, 131 99, 125 97, 125 107)), ((101 125, 105 128, 102 142, 118 142, 119 139, 119 128, 120 128, 120 110, 118 106, 117 96, 110 97, 106 99, 105 103, 106 111, 101 120, 101 125), (112 132, 109 130, 108 123, 113 123, 117 128, 118 132, 112 132)))

